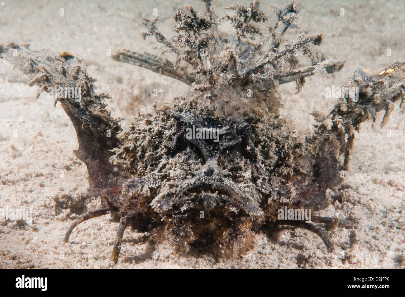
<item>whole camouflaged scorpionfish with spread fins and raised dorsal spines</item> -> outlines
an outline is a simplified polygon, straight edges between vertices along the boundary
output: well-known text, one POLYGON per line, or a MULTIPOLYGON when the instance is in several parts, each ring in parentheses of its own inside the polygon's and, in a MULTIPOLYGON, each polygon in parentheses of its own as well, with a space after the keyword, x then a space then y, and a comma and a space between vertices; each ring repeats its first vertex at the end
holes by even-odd
POLYGON ((278 112, 277 87, 295 81, 299 92, 305 77, 332 75, 343 62, 318 51, 322 34, 294 24, 293 2, 284 9, 270 6, 274 24, 258 1, 233 4, 223 17, 210 0, 204 2, 205 13, 179 7, 170 39, 159 32, 158 17, 142 20, 147 29, 142 35, 157 39, 160 56, 127 49, 113 54, 114 60, 192 86, 171 105, 139 115, 125 130, 105 109, 108 96, 94 92, 93 79, 76 55, 31 51, 15 43, 0 47, 1 58, 17 65, 41 91, 54 85, 81 90, 79 100, 58 96, 55 104, 60 102, 75 126, 75 153, 87 165, 90 193, 103 203, 76 220, 65 241, 79 223, 114 212, 120 221, 115 262, 127 226, 147 232, 156 244, 169 241, 177 252, 203 246, 232 257, 252 248, 254 233, 291 225, 317 233, 332 250, 328 233, 316 223, 351 227, 352 222, 316 214, 312 222, 279 220, 278 210, 316 212, 329 205, 326 190, 342 183, 340 171, 349 166, 359 124, 385 110, 384 125, 398 100, 403 109, 403 65, 380 73, 357 70, 347 87, 358 92, 338 99, 328 115, 313 113, 318 124, 301 139, 278 112), (224 23, 232 30, 224 31, 224 23), (286 39, 286 30, 296 30, 295 41, 286 39), (297 51, 308 61, 299 61, 297 51), (190 137, 196 128, 201 134, 190 137))

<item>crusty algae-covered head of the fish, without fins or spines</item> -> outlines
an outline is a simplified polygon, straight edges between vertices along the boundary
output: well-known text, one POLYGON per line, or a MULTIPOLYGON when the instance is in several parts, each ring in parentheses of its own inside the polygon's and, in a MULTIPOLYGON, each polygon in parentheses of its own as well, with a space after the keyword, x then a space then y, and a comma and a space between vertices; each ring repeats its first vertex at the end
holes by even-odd
MULTIPOLYGON (((220 100, 241 100, 237 95, 225 90, 220 100)), ((277 218, 281 196, 270 198, 269 191, 299 172, 294 155, 302 156, 304 146, 286 123, 259 106, 238 111, 215 106, 203 94, 177 98, 154 115, 140 115, 118 136, 123 145, 112 160, 133 178, 124 185, 130 198, 122 205, 146 199, 141 211, 147 215, 151 206, 180 250, 212 235, 215 247, 237 254, 254 224, 277 218), (188 139, 192 126, 218 129, 219 141, 188 139)))

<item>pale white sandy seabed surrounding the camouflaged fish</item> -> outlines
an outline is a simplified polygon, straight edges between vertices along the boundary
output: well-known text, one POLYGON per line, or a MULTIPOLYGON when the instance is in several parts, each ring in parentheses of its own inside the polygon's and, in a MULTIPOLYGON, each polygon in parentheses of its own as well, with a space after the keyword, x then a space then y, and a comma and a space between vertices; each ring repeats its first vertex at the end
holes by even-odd
MULTIPOLYGON (((189 2, 204 9, 198 1, 189 2)), ((314 122, 309 113, 315 109, 328 113, 335 103, 325 99, 326 87, 345 85, 357 68, 378 72, 405 60, 404 3, 296 1, 301 26, 324 33, 325 56, 346 61, 335 79, 311 77, 298 94, 294 94, 294 83, 280 88, 283 113, 292 115, 303 135, 314 122)), ((109 102, 112 115, 124 115, 127 124, 137 111, 150 110, 150 103, 156 101, 153 89, 158 89, 159 101, 166 103, 187 86, 114 62, 106 50, 151 51, 155 41, 139 36, 143 31, 139 19, 152 18, 157 8, 162 13, 160 28, 169 36, 174 24, 171 15, 178 4, 182 3, 118 1, 111 6, 108 1, 1 1, 0 42, 13 40, 31 43, 34 50, 78 53, 90 75, 98 79, 96 91, 114 98, 109 102)), ((224 6, 230 4, 224 1, 224 6)), ((267 9, 267 4, 262 3, 262 8, 267 9)), ((215 3, 218 14, 222 13, 219 5, 215 3)), ((17 83, 20 74, 0 61, 0 208, 32 209, 33 218, 27 226, 15 220, 0 223, 1 268, 404 268, 405 124, 398 104, 384 129, 362 124, 345 187, 339 193, 330 191, 334 202, 320 212, 356 219, 353 229, 332 232, 334 253, 328 253, 313 233, 283 229, 271 236, 258 234, 247 256, 218 263, 209 254, 176 255, 169 247, 137 244, 140 234, 128 229, 120 261, 113 266, 109 256, 117 224, 107 216, 79 225, 70 237, 72 243, 62 241, 77 217, 70 209, 80 213, 83 207, 97 207, 98 201, 86 196, 87 171, 72 152, 77 139, 70 120, 59 105, 53 108, 45 92, 35 100, 38 88, 28 87, 26 77, 17 83)))

